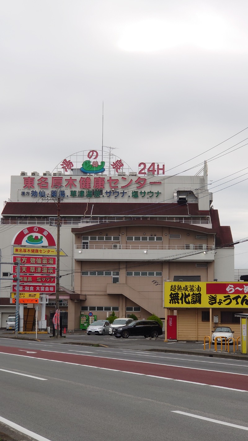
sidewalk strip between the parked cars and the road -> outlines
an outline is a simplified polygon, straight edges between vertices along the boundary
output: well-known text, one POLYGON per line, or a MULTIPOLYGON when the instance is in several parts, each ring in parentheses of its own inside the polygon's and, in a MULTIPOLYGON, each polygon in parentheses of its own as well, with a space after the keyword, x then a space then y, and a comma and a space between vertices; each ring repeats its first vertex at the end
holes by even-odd
MULTIPOLYGON (((62 334, 63 335, 63 334, 62 334)), ((0 330, 0 338, 13 338, 15 335, 13 333, 8 333, 5 329, 0 330)), ((63 335, 62 338, 54 338, 52 334, 38 334, 38 341, 45 341, 47 343, 60 343, 60 344, 78 344, 83 346, 100 346, 102 348, 113 348, 113 349, 126 349, 135 351, 156 351, 156 352, 169 352, 171 354, 183 354, 183 355, 200 355, 205 357, 218 357, 218 358, 229 358, 237 360, 248 360, 248 355, 242 355, 240 350, 233 353, 233 346, 230 346, 230 352, 225 351, 225 345, 223 345, 223 350, 221 352, 221 347, 217 347, 217 352, 214 346, 206 344, 206 350, 204 351, 203 342, 183 342, 183 341, 173 341, 164 342, 164 336, 159 336, 157 339, 150 339, 144 337, 129 337, 128 339, 117 339, 114 336, 88 336, 85 332, 76 332, 63 335), (64 337, 64 338, 63 338, 64 337)), ((35 334, 19 334, 18 340, 34 340, 35 334)))

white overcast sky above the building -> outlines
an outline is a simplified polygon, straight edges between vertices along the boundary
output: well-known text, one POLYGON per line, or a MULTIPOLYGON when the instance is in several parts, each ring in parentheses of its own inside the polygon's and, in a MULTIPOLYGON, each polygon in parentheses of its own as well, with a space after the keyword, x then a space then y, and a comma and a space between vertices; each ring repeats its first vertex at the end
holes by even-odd
MULTIPOLYGON (((103 100, 104 145, 134 170, 178 166, 248 127, 247 16, 243 0, 2 0, 0 200, 11 175, 101 148, 103 100)), ((208 162, 234 240, 248 236, 245 138, 173 170, 243 146, 208 162)), ((235 267, 248 268, 248 242, 235 267)))

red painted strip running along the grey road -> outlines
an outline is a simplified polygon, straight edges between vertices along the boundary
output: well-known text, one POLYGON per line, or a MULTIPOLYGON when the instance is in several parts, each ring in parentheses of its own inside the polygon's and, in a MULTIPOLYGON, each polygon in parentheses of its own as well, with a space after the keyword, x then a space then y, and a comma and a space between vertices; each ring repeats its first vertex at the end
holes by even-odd
POLYGON ((110 370, 113 369, 137 374, 155 375, 158 377, 172 378, 174 380, 192 381, 207 385, 248 391, 248 375, 229 374, 224 372, 189 369, 176 366, 165 366, 155 363, 139 363, 136 361, 110 359, 97 356, 65 354, 52 351, 35 351, 35 353, 32 354, 24 348, 7 348, 6 346, 0 346, 0 352, 3 352, 4 354, 25 355, 30 358, 103 367, 110 370))

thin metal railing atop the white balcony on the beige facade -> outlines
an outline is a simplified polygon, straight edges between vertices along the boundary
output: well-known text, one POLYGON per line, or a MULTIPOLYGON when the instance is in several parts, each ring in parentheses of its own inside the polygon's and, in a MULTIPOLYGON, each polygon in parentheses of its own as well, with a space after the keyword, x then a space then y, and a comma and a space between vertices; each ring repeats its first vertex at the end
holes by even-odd
POLYGON ((107 243, 107 244, 89 244, 89 245, 75 245, 76 250, 184 250, 184 251, 210 251, 213 247, 199 247, 198 245, 194 245, 193 248, 186 248, 184 245, 151 245, 149 243, 142 245, 120 245, 119 243, 107 243))

